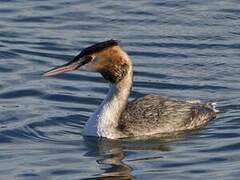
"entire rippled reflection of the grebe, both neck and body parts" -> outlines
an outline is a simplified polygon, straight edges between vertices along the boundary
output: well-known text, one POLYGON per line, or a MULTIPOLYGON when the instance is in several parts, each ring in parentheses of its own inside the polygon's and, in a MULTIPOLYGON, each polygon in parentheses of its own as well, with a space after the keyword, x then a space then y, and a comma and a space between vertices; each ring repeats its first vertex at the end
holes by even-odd
POLYGON ((171 151, 171 144, 189 135, 189 131, 175 134, 161 134, 154 137, 111 140, 106 138, 84 137, 87 147, 85 156, 97 157, 97 164, 103 171, 94 179, 135 179, 131 163, 141 161, 161 161, 162 155, 140 158, 127 158, 127 151, 171 151))

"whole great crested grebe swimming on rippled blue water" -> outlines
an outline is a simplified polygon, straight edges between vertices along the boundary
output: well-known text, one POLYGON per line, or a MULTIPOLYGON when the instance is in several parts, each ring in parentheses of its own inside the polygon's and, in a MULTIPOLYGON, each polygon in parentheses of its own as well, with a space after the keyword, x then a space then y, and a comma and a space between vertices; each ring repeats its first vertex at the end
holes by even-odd
POLYGON ((171 133, 198 128, 217 114, 213 103, 201 104, 158 95, 146 95, 128 102, 133 80, 132 62, 115 40, 87 47, 72 61, 44 76, 76 69, 99 72, 110 84, 106 98, 84 127, 86 136, 117 139, 171 133))

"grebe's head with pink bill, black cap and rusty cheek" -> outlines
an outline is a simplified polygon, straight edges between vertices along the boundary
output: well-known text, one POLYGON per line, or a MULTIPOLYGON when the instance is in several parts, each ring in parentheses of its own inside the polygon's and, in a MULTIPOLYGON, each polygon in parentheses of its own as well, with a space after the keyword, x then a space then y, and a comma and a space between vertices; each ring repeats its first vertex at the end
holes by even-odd
POLYGON ((44 76, 54 76, 73 70, 99 72, 111 83, 118 83, 131 66, 128 55, 115 40, 94 44, 82 50, 72 61, 46 72, 44 76))

